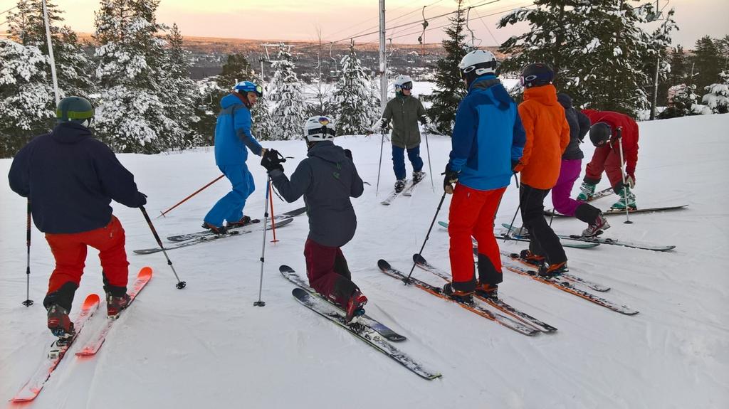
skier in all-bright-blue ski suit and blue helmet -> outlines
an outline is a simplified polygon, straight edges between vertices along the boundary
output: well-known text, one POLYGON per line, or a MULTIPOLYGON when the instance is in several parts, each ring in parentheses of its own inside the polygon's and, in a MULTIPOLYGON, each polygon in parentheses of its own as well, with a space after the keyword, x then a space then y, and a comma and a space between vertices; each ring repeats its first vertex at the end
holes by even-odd
POLYGON ((262 95, 259 85, 243 81, 220 100, 222 110, 215 125, 215 164, 230 180, 233 190, 218 200, 203 220, 203 227, 216 234, 251 222, 249 216, 243 215, 246 199, 255 190, 246 159, 247 149, 258 156, 265 153, 251 133, 251 108, 262 95), (226 226, 223 221, 227 221, 226 226))

